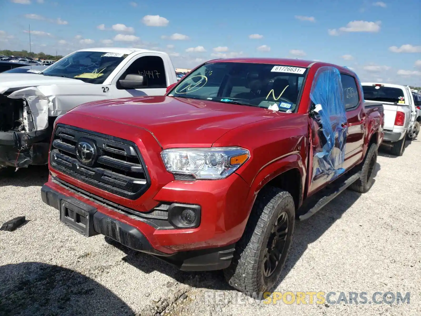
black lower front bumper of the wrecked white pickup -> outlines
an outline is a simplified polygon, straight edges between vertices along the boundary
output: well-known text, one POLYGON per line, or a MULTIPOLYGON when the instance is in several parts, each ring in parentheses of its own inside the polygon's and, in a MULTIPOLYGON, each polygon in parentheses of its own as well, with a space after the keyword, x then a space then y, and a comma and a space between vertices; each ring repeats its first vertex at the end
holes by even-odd
POLYGON ((51 129, 22 133, 0 131, 0 168, 48 163, 51 129))

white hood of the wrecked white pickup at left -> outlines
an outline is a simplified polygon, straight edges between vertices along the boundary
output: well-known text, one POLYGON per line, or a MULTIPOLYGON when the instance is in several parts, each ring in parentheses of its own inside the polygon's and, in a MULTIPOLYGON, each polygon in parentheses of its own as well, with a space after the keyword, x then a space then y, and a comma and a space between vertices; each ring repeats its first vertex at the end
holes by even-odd
POLYGON ((4 93, 8 89, 16 90, 16 88, 60 84, 86 85, 91 83, 85 83, 79 79, 44 76, 33 73, 0 73, 0 93, 4 93))

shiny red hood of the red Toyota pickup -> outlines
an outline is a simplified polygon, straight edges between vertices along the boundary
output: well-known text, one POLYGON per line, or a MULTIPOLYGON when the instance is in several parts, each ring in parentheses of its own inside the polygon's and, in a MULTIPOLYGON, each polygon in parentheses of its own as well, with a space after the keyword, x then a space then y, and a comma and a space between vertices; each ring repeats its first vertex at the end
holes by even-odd
POLYGON ((288 116, 259 107, 171 96, 97 101, 80 105, 69 113, 147 129, 164 149, 210 147, 219 137, 238 126, 279 115, 288 116))

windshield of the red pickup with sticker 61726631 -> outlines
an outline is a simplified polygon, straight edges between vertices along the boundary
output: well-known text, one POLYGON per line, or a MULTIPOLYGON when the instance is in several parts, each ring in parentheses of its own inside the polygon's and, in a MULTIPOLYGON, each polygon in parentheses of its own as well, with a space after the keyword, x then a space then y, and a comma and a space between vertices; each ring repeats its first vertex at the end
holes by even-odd
POLYGON ((306 68, 274 64, 204 64, 180 81, 169 96, 240 103, 293 111, 306 68))

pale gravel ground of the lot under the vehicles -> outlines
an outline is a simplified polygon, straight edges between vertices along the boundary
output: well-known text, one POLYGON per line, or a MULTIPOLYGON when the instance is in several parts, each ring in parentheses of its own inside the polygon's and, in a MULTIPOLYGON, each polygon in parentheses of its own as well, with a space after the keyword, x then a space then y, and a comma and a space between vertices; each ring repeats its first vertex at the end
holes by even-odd
POLYGON ((345 191, 297 223, 275 291, 336 292, 336 300, 339 292, 368 292, 369 301, 374 292, 410 292, 410 304, 266 305, 237 297, 221 272, 180 272, 66 228, 41 201, 47 169, 31 167, 0 171, 0 223, 28 220, 0 231, 0 314, 421 315, 421 141, 407 146, 402 157, 379 154, 368 193, 345 191), (227 302, 205 302, 215 295, 227 302))

